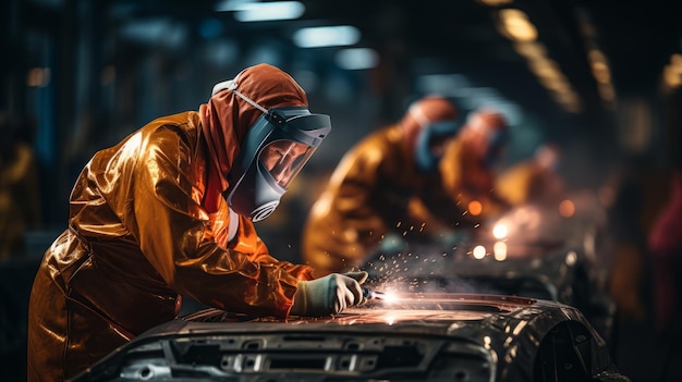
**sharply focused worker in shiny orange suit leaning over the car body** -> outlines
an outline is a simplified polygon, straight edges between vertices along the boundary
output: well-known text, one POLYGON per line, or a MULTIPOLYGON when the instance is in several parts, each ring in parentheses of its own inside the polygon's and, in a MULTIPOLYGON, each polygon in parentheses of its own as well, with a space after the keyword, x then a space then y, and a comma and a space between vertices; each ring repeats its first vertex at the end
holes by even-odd
POLYGON ((159 118, 96 152, 34 281, 28 380, 73 378, 174 319, 180 295, 279 318, 362 303, 366 273, 313 280, 308 267, 271 257, 253 224, 330 130, 291 76, 259 64, 217 84, 198 112, 159 118))

